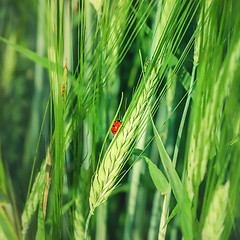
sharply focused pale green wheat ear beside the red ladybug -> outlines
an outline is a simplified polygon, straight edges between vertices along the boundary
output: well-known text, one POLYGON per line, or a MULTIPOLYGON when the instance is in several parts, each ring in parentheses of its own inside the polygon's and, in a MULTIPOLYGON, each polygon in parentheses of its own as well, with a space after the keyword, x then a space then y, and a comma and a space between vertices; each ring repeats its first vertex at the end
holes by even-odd
POLYGON ((120 129, 108 147, 100 167, 97 169, 90 189, 89 205, 93 214, 97 206, 107 200, 117 185, 117 179, 126 163, 136 135, 142 126, 143 115, 153 94, 153 78, 149 79, 141 90, 136 92, 138 99, 133 101, 126 112, 120 129), (131 113, 129 113, 131 112, 131 113))

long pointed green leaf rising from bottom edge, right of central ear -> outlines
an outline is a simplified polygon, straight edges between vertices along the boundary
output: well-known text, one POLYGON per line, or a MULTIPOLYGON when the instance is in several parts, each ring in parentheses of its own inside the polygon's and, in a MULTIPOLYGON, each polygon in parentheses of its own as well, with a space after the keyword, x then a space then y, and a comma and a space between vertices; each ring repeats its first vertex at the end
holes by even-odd
MULTIPOLYGON (((152 120, 152 118, 151 118, 152 120)), ((173 190, 173 194, 179 204, 180 210, 181 210, 181 223, 182 223, 182 233, 183 236, 186 239, 193 239, 193 232, 192 232, 192 213, 191 213, 191 204, 190 200, 187 195, 186 189, 183 187, 180 178, 173 166, 173 163, 168 156, 164 145, 162 143, 162 140, 157 132, 157 129, 153 123, 153 130, 154 130, 154 136, 156 139, 158 151, 161 157, 162 164, 164 166, 164 169, 166 171, 168 181, 171 185, 171 188, 173 190)))

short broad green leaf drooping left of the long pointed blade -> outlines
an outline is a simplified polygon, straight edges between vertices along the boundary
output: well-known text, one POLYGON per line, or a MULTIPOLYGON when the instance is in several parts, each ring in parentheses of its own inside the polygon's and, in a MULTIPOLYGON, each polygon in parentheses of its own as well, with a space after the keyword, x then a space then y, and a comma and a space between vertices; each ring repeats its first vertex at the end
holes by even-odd
POLYGON ((168 191, 168 181, 163 175, 162 171, 154 164, 149 158, 145 157, 145 160, 148 164, 148 169, 150 176, 153 180, 153 183, 157 190, 159 190, 162 194, 167 194, 168 191))

